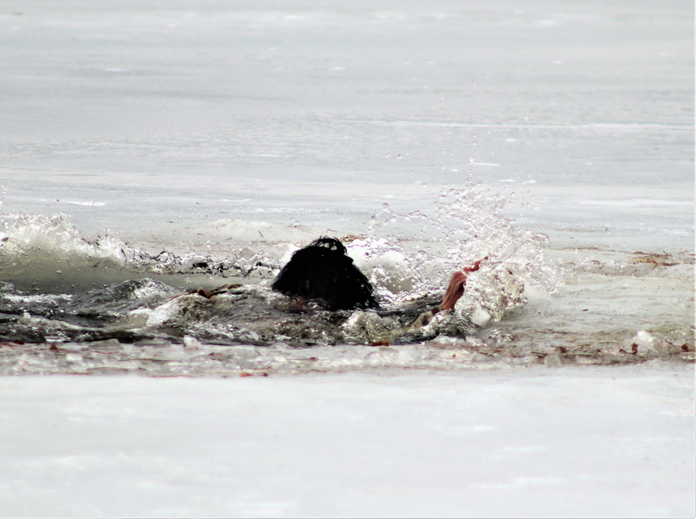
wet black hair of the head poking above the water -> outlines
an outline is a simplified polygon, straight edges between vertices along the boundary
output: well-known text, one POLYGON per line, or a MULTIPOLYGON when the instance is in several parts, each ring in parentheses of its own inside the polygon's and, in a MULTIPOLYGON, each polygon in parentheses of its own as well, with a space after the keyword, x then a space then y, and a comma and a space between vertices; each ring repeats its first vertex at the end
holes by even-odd
POLYGON ((379 306, 370 281, 335 238, 322 237, 296 250, 271 287, 286 296, 319 300, 329 310, 379 306))

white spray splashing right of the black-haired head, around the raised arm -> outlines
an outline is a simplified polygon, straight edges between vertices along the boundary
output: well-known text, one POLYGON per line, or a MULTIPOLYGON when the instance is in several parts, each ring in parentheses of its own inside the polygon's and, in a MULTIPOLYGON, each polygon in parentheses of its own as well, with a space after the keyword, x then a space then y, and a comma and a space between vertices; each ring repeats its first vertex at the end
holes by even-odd
POLYGON ((480 309, 499 321, 524 304, 525 287, 553 293, 561 282, 544 257, 548 237, 515 227, 501 212, 508 202, 509 196, 469 184, 443 190, 432 215, 397 214, 385 205, 372 218, 367 239, 349 250, 371 273, 382 300, 393 305, 441 292, 454 271, 487 258, 469 276, 457 309, 469 316, 480 309))

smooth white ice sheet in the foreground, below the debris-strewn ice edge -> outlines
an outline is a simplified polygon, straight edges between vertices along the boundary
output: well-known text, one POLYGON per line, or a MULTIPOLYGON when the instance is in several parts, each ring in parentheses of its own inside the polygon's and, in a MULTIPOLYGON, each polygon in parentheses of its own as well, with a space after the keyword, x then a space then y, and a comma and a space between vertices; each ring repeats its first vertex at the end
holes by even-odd
POLYGON ((0 378, 2 516, 693 517, 694 369, 0 378))

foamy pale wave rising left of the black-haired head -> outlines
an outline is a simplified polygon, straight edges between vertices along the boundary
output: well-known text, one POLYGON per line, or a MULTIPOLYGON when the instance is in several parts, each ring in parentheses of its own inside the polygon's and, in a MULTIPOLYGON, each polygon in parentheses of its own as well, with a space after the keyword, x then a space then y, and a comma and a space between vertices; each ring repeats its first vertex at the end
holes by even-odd
POLYGON ((267 278, 276 265, 262 253, 217 259, 210 253, 150 254, 109 235, 85 239, 67 214, 0 216, 0 274, 13 285, 42 292, 81 292, 134 276, 175 286, 213 277, 267 278))

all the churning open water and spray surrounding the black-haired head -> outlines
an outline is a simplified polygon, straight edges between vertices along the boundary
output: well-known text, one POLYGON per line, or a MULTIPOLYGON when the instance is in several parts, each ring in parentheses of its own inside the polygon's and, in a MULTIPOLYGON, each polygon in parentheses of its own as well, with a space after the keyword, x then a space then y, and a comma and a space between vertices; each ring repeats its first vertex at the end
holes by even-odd
POLYGON ((523 305, 525 285, 551 292, 557 282, 544 262, 546 240, 503 217, 500 211, 507 202, 505 196, 469 184, 442 191, 432 214, 398 214, 385 206, 372 218, 367 237, 348 245, 383 309, 333 314, 293 312, 292 302, 267 286, 280 262, 261 252, 226 259, 166 250, 151 255, 109 234, 88 241, 65 214, 3 215, 3 276, 33 292, 17 294, 10 285, 3 290, 5 313, 22 316, 9 319, 12 326, 5 336, 27 342, 109 337, 177 341, 193 336, 224 344, 305 345, 463 337, 523 305), (441 301, 453 271, 484 257, 454 312, 413 326, 419 314, 441 301), (133 279, 143 275, 159 279, 133 279), (177 290, 170 285, 177 280, 209 286, 213 275, 260 280, 260 285, 239 287, 214 303, 198 296, 171 299, 177 290))

